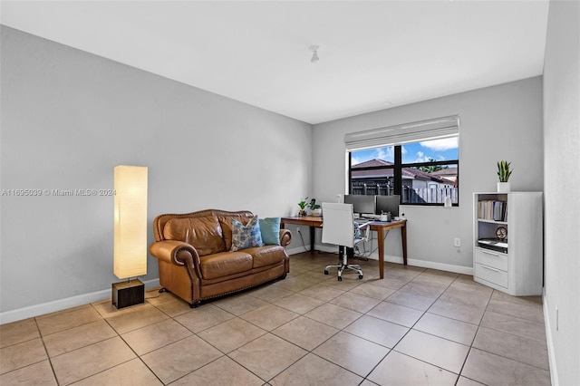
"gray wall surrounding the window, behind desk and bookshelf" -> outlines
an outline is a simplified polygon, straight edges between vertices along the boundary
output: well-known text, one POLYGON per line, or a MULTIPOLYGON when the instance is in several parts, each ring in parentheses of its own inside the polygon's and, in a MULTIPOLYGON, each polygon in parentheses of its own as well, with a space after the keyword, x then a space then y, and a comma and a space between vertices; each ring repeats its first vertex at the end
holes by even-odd
MULTIPOLYGON (((496 191, 496 162, 512 162, 513 191, 543 190, 541 77, 314 125, 316 198, 335 201, 345 192, 345 133, 454 114, 460 117, 459 207, 402 206, 401 212, 409 220, 411 264, 471 273, 473 192, 496 191)), ((401 256, 400 235, 387 238, 391 256, 401 256)))

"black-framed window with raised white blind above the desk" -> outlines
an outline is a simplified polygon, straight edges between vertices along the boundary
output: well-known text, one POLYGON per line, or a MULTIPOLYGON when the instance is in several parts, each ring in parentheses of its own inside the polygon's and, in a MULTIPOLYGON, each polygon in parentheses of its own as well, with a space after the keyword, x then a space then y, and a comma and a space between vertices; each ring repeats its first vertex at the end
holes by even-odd
POLYGON ((459 205, 459 117, 349 133, 349 194, 459 205))

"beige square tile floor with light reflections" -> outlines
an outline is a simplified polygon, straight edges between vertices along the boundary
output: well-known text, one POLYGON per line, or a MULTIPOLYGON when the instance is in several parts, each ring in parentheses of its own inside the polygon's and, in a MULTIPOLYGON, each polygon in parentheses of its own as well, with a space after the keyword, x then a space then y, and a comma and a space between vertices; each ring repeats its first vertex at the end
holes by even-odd
POLYGON ((471 276, 291 256, 285 280, 202 304, 149 291, 0 326, 0 383, 548 385, 541 298, 471 276))

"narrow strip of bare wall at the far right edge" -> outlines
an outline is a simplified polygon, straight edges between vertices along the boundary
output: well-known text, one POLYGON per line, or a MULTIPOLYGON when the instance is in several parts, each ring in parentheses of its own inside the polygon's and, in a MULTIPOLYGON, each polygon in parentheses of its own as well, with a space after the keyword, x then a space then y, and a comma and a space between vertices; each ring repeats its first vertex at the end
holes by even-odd
POLYGON ((580 4, 551 1, 544 68, 544 309, 553 384, 580 384, 580 4), (557 308, 557 311, 556 311, 557 308))

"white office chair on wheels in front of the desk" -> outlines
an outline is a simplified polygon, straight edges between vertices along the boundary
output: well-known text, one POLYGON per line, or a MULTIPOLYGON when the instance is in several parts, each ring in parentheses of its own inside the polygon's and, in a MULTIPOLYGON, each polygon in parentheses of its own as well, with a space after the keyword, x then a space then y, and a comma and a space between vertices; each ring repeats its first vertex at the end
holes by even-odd
POLYGON ((339 246, 339 260, 337 265, 327 265, 324 275, 328 275, 330 268, 338 268, 338 280, 343 280, 343 270, 352 269, 362 279, 360 265, 348 264, 348 257, 353 256, 353 248, 362 241, 367 241, 370 235, 368 223, 359 226, 360 232, 354 228, 354 214, 352 204, 337 204, 323 202, 323 243, 339 246))

